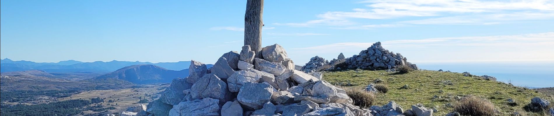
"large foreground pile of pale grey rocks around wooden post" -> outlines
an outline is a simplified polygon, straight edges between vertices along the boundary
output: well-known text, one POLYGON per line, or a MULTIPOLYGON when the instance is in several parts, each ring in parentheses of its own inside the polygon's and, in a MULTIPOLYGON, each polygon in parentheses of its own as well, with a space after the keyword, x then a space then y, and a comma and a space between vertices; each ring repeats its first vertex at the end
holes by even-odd
POLYGON ((259 53, 255 58, 250 46, 243 46, 223 54, 211 69, 192 60, 190 75, 173 79, 137 115, 372 115, 352 105, 345 90, 316 77, 321 74, 294 70, 280 45, 259 53))

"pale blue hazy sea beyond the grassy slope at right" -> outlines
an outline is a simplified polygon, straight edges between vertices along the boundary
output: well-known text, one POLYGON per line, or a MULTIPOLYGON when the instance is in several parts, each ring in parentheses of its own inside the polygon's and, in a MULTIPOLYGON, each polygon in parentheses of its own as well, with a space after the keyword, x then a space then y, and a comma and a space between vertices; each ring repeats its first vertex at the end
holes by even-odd
POLYGON ((425 70, 468 71, 473 75, 495 76, 498 81, 515 86, 554 87, 554 61, 414 63, 425 70))

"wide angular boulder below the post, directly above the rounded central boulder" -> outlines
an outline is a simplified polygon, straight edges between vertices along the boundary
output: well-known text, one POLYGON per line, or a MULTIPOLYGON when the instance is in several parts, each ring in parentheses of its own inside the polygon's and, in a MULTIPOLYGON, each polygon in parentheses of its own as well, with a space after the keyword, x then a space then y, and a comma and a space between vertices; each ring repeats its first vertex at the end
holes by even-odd
POLYGON ((246 82, 260 82, 261 79, 269 78, 273 78, 273 75, 263 71, 255 69, 239 70, 229 76, 227 85, 229 86, 230 92, 238 92, 240 87, 245 85, 246 82))

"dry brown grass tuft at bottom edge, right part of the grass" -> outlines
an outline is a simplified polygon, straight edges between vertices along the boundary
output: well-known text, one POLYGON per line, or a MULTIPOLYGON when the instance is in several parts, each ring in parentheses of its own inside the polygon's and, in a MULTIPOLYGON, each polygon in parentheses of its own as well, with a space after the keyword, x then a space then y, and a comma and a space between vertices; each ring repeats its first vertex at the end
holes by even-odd
POLYGON ((461 98, 454 105, 454 111, 462 115, 492 116, 495 115, 494 104, 485 98, 469 95, 461 98))

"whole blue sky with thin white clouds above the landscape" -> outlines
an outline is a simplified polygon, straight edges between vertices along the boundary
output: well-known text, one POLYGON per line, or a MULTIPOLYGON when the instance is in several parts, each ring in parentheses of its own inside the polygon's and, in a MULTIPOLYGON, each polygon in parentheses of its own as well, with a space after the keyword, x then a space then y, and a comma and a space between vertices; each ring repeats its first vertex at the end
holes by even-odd
MULTIPOLYGON (((243 45, 245 1, 1 1, 0 57, 214 63, 243 45)), ((296 64, 377 41, 413 63, 554 59, 554 1, 265 1, 262 42, 296 64)))

